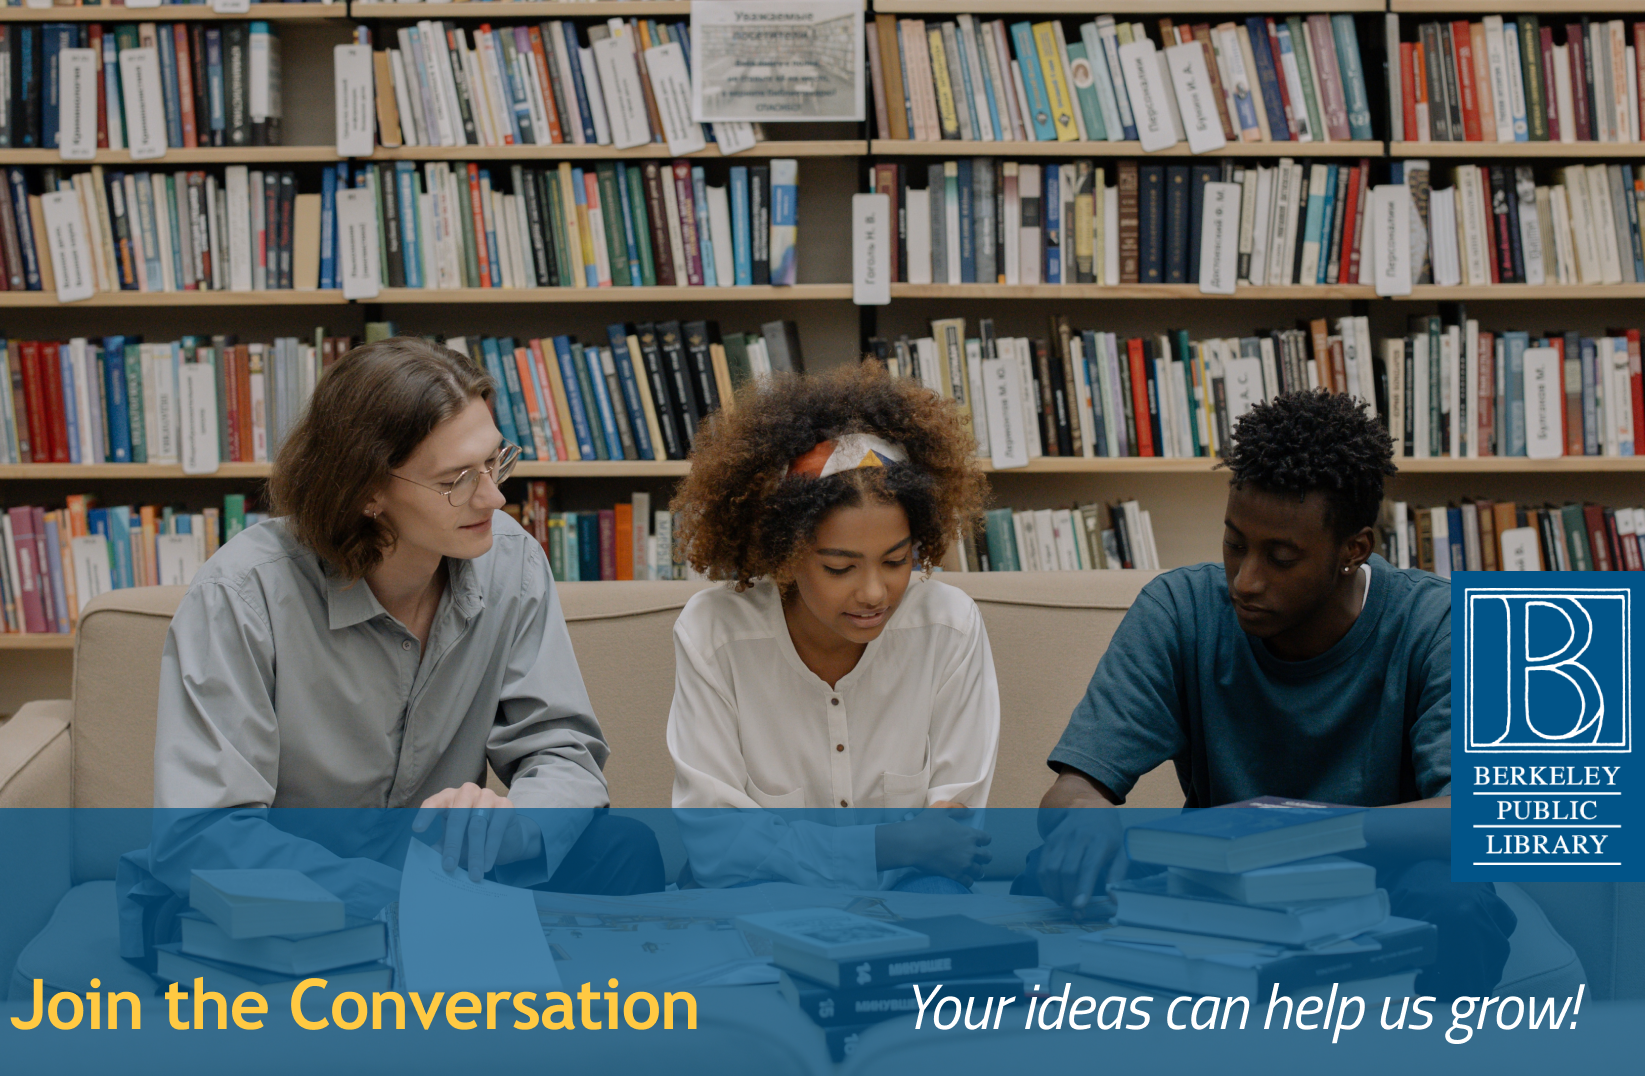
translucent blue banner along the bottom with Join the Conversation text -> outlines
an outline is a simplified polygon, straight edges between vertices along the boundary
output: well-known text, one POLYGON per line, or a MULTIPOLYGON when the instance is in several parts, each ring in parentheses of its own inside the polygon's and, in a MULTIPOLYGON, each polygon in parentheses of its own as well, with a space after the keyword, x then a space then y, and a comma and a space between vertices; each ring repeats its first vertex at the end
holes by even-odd
POLYGON ((1449 834, 1298 808, 0 811, 0 1068, 1637 1064, 1638 893, 1454 882, 1449 834))

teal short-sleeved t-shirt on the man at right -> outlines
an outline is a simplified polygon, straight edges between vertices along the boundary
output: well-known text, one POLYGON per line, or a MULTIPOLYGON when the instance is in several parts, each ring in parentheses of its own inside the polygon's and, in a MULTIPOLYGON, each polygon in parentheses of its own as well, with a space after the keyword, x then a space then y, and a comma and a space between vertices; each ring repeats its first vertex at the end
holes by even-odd
POLYGON ((1451 795, 1451 587, 1380 556, 1369 587, 1331 650, 1281 661, 1240 628, 1222 564, 1165 573, 1125 614, 1051 760, 1125 796, 1171 758, 1188 806, 1451 795))

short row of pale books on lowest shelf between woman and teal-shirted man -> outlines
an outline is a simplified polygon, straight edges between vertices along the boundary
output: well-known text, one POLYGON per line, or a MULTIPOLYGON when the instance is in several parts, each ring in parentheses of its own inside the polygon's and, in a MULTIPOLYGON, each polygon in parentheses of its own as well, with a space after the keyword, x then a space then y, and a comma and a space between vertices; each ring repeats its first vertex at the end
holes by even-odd
POLYGON ((990 508, 959 543, 961 571, 1160 568, 1153 520, 1135 500, 1073 508, 990 508))

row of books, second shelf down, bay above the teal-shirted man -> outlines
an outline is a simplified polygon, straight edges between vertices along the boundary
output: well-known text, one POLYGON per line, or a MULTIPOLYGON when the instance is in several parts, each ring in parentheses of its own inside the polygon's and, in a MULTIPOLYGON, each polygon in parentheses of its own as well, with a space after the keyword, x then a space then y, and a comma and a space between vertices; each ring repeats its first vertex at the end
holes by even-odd
POLYGON ((1230 285, 1372 283, 1369 158, 959 158, 875 165, 872 178, 900 219, 892 276, 903 283, 1196 285, 1207 183, 1240 188, 1227 216, 1239 222, 1230 285))

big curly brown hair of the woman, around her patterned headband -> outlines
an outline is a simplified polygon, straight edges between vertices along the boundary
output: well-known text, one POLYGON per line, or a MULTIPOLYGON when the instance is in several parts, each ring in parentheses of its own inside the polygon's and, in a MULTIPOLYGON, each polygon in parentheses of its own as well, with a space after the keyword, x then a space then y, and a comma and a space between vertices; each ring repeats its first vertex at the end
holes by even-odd
POLYGON ((697 431, 691 474, 674 494, 686 563, 737 589, 780 582, 836 508, 898 503, 926 569, 956 535, 975 526, 987 495, 975 441, 952 400, 878 362, 750 383, 697 431), (872 433, 908 462, 826 479, 790 477, 790 462, 819 443, 872 433))

